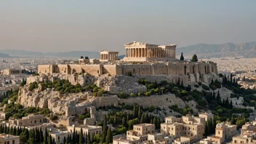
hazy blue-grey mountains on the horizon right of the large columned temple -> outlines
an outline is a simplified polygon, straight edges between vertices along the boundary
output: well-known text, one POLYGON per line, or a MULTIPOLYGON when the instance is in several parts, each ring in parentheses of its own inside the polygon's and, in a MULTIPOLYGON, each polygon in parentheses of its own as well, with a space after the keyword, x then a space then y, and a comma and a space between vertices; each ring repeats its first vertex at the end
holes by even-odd
POLYGON ((256 57, 256 41, 243 44, 195 44, 188 47, 180 47, 176 55, 183 52, 184 57, 192 57, 196 54, 200 58, 210 57, 256 57))

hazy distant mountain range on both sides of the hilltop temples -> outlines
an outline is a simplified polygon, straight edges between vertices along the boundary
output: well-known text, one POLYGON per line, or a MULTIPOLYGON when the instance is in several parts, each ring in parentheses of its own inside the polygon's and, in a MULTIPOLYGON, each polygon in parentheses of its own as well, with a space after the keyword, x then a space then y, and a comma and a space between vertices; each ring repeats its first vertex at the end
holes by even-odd
MULTIPOLYGON (((177 58, 183 52, 184 57, 191 58, 196 54, 199 58, 210 57, 256 57, 256 41, 243 44, 194 44, 188 47, 180 47, 176 50, 177 58)), ((9 56, 36 56, 36 57, 80 57, 100 58, 99 52, 71 51, 71 52, 31 52, 17 49, 0 50, 0 57, 9 56)), ((124 55, 119 55, 119 59, 124 55)))

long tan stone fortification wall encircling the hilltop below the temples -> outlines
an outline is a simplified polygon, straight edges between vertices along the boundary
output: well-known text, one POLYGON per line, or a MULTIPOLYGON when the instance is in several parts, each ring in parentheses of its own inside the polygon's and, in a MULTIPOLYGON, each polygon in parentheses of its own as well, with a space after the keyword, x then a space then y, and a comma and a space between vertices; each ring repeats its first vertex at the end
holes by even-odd
POLYGON ((93 76, 110 73, 123 75, 131 72, 133 75, 188 75, 217 73, 216 63, 153 63, 153 64, 127 64, 127 65, 39 65, 39 73, 83 73, 93 76))

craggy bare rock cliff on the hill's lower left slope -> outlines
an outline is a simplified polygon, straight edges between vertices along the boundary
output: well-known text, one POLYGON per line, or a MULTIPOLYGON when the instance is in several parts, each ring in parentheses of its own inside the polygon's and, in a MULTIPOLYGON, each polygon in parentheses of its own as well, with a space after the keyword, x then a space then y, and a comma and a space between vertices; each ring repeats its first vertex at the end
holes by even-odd
POLYGON ((93 100, 94 97, 89 95, 91 95, 89 92, 60 95, 59 92, 52 91, 52 89, 41 91, 40 88, 33 89, 33 92, 30 92, 26 85, 19 90, 17 103, 20 103, 25 108, 49 108, 49 110, 54 113, 65 113, 66 109, 69 105, 72 105, 73 101, 93 100))

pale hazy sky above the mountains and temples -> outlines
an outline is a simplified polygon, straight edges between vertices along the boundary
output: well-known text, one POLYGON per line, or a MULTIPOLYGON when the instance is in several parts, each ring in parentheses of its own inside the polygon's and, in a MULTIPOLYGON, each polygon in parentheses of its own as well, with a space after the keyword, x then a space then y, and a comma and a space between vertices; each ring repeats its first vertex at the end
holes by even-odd
POLYGON ((255 0, 1 0, 0 49, 124 53, 132 41, 256 41, 255 0))

